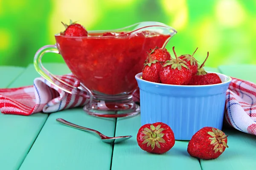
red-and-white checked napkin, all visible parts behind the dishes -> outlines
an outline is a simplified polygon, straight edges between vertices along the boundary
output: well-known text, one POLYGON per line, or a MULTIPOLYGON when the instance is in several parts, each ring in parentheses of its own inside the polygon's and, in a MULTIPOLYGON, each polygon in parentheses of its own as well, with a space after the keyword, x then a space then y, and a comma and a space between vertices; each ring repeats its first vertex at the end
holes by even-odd
MULTIPOLYGON (((73 74, 56 77, 75 87, 80 84, 73 74)), ((70 90, 72 94, 38 77, 30 86, 0 89, 0 111, 4 114, 28 116, 38 112, 53 113, 84 106, 89 102, 86 92, 70 90)), ((134 91, 133 99, 134 102, 140 102, 139 89, 134 91)), ((256 84, 232 77, 226 92, 224 117, 237 130, 256 135, 256 84)))

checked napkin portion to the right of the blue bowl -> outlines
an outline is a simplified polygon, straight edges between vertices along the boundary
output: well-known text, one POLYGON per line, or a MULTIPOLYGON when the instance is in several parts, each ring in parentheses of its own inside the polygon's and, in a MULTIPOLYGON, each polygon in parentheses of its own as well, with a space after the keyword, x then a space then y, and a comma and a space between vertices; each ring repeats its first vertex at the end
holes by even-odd
POLYGON ((256 84, 232 77, 224 114, 232 127, 256 135, 256 84))

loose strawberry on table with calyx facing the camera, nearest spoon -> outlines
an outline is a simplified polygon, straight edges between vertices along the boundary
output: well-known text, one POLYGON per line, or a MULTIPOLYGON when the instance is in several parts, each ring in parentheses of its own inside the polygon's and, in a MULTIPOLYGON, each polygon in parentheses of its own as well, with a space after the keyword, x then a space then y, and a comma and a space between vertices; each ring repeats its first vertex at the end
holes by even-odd
POLYGON ((174 133, 162 122, 145 124, 137 133, 137 142, 142 150, 149 153, 166 153, 175 144, 174 133))

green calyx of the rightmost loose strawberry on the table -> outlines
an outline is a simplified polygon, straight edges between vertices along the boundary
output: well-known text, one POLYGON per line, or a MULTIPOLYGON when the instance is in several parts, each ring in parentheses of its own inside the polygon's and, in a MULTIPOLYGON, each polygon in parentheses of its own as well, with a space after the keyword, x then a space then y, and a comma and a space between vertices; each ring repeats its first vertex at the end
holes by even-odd
POLYGON ((209 131, 207 133, 211 136, 208 139, 211 140, 210 144, 214 146, 214 153, 222 153, 223 148, 228 147, 227 143, 225 142, 225 140, 227 139, 227 135, 225 135, 224 132, 219 129, 212 128, 212 131, 209 131))

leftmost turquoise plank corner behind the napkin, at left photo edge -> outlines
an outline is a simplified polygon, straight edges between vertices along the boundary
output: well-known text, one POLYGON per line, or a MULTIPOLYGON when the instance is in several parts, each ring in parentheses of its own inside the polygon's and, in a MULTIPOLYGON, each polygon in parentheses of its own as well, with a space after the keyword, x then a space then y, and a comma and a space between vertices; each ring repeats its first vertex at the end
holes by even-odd
POLYGON ((8 87, 24 70, 22 67, 0 66, 0 88, 8 87))

